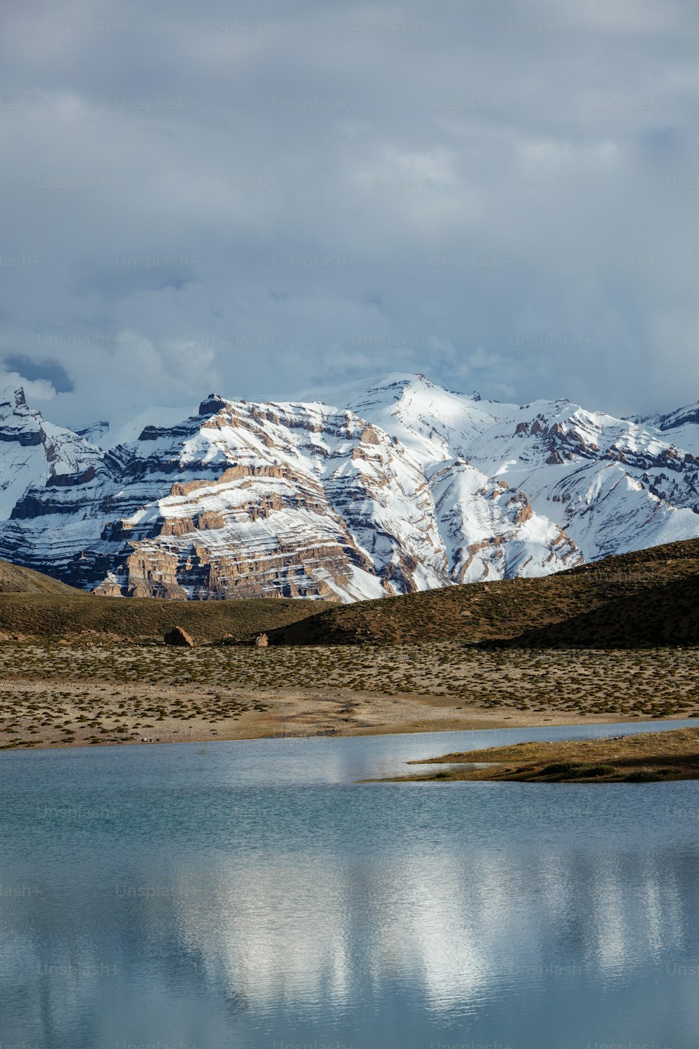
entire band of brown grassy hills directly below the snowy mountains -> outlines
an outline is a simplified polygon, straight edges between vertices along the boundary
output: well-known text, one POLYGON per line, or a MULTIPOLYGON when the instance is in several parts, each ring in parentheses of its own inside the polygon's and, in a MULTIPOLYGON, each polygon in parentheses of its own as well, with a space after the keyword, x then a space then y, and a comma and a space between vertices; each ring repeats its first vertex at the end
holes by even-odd
POLYGON ((0 631, 86 630, 114 640, 182 626, 201 643, 260 630, 272 644, 511 643, 522 647, 699 644, 699 540, 607 558, 543 579, 471 583, 406 597, 325 605, 267 598, 163 601, 99 598, 0 562, 0 631))

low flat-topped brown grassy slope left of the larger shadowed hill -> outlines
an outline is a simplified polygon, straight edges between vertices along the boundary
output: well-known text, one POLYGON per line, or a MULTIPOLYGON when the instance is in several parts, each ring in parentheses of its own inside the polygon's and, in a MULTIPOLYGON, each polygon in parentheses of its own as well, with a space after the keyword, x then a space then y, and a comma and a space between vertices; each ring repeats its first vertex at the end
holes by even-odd
MULTIPOLYGON (((62 585, 57 583, 58 585, 62 585)), ((66 594, 0 594, 0 633, 72 638, 94 631, 112 641, 153 640, 181 626, 201 644, 231 634, 248 641, 262 630, 315 611, 313 601, 260 598, 241 601, 163 601, 66 594)))

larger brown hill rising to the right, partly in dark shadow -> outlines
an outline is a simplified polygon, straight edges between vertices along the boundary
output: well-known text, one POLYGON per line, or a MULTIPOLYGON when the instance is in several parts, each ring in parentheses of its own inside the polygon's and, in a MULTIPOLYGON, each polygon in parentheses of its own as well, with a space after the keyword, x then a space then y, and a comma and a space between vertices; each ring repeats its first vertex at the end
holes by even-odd
POLYGON ((333 605, 274 630, 269 639, 287 645, 515 639, 539 647, 699 644, 699 602, 693 599, 698 573, 699 539, 690 539, 542 579, 469 583, 333 605), (585 617, 593 625, 578 634, 582 620, 588 622, 585 617), (532 629, 539 633, 534 636, 532 629))

